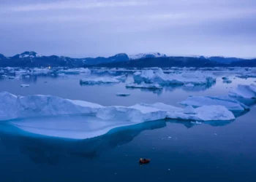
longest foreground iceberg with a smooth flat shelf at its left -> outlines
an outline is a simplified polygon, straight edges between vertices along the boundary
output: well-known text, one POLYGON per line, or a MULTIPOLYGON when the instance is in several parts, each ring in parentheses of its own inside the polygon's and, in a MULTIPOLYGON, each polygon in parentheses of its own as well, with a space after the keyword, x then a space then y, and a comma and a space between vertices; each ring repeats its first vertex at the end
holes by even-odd
POLYGON ((0 92, 0 120, 9 120, 22 130, 40 135, 91 138, 103 135, 115 127, 159 119, 226 121, 235 119, 235 116, 224 106, 178 108, 164 103, 140 103, 129 107, 101 106, 97 103, 52 95, 23 97, 0 92), (72 118, 58 119, 64 116, 72 118))

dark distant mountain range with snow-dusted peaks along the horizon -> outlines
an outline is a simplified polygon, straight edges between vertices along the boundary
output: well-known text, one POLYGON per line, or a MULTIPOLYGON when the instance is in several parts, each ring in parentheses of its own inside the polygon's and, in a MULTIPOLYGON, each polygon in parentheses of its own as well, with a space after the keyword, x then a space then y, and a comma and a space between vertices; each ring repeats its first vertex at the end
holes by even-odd
POLYGON ((167 56, 159 52, 141 53, 138 55, 117 55, 97 58, 69 58, 57 55, 40 55, 37 52, 23 52, 5 57, 0 54, 0 67, 213 67, 213 66, 246 66, 256 67, 256 59, 204 57, 204 56, 167 56))

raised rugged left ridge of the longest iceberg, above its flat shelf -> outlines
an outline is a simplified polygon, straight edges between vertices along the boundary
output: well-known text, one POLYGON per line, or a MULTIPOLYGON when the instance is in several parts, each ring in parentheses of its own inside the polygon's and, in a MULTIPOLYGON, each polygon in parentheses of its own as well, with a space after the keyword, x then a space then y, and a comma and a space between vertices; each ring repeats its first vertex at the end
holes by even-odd
POLYGON ((82 100, 69 100, 51 95, 26 97, 0 92, 0 120, 56 116, 65 114, 96 114, 102 106, 82 100))

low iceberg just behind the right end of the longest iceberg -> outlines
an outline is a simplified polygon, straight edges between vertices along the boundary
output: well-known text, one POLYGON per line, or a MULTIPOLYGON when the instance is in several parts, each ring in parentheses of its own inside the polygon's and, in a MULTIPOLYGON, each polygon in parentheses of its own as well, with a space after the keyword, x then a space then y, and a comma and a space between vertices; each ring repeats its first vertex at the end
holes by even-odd
POLYGON ((193 106, 193 107, 201 107, 201 106, 210 106, 210 105, 220 105, 225 106, 230 111, 244 111, 249 110, 249 107, 244 105, 244 103, 239 102, 233 98, 229 98, 227 96, 220 97, 209 97, 209 96, 192 96, 180 102, 181 105, 184 106, 193 106))

